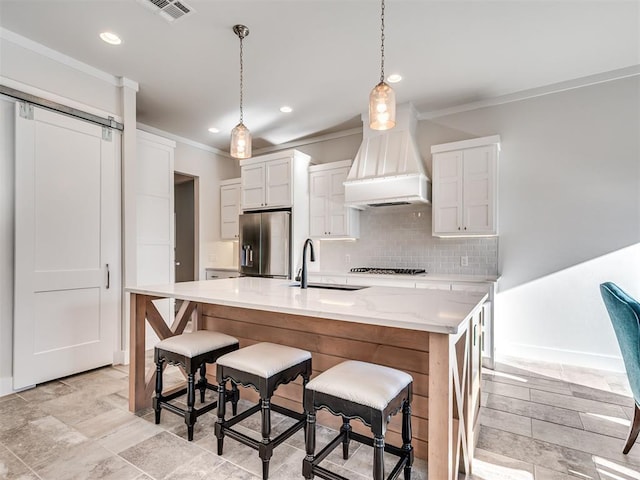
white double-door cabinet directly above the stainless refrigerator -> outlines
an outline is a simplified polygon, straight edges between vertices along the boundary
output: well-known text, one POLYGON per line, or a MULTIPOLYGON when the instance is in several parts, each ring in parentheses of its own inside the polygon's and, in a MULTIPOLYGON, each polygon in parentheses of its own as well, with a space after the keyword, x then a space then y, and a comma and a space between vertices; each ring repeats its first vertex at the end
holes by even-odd
POLYGON ((292 207, 296 180, 307 175, 309 159, 297 150, 286 150, 241 160, 242 210, 292 207))

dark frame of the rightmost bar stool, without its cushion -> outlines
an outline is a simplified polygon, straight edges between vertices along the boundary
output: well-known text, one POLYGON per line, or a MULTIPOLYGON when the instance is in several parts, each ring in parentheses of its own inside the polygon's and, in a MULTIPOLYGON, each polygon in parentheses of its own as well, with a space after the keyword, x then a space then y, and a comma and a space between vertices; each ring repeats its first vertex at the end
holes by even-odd
POLYGON ((373 447, 373 480, 384 480, 384 452, 399 458, 387 480, 398 478, 404 468, 405 480, 411 479, 413 465, 413 447, 411 446, 411 397, 413 382, 403 388, 384 410, 361 405, 334 395, 315 390, 307 390, 304 394, 304 409, 307 412, 306 453, 302 461, 302 474, 305 479, 312 479, 314 475, 326 480, 348 480, 326 468, 320 466, 340 443, 342 443, 342 457, 349 458, 349 443, 351 440, 373 447), (316 410, 325 408, 333 415, 342 417, 342 427, 338 435, 320 453, 315 455, 316 449, 316 410), (389 419, 402 410, 402 448, 386 445, 384 436, 389 419), (352 431, 350 420, 359 419, 371 428, 373 438, 352 431))

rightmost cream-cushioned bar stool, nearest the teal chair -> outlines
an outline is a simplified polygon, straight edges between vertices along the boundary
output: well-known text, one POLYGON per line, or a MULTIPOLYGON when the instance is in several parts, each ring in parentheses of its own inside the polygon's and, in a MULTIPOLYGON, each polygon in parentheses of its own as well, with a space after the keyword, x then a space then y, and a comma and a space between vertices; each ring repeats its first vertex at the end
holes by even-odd
POLYGON ((404 467, 405 480, 411 479, 411 375, 372 363, 349 360, 321 373, 305 387, 304 409, 307 412, 306 451, 302 474, 314 474, 331 480, 347 480, 320 466, 320 462, 342 443, 342 455, 349 458, 349 442, 356 440, 373 447, 373 479, 384 480, 384 452, 396 455, 397 464, 388 480, 396 479, 404 467), (316 410, 326 408, 342 417, 340 433, 320 453, 316 448, 316 410), (384 436, 392 415, 402 410, 402 448, 385 445, 384 436), (357 418, 371 428, 373 438, 353 432, 349 421, 357 418))

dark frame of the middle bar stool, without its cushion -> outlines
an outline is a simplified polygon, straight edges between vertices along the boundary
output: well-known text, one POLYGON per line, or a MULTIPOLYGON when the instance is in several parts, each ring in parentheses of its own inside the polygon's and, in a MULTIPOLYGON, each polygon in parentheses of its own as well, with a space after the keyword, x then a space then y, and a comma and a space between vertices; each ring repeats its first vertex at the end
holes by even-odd
POLYGON ((298 430, 304 428, 306 418, 304 413, 298 413, 280 405, 271 403, 271 397, 279 385, 289 383, 300 375, 302 375, 304 389, 304 386, 307 384, 311 376, 310 358, 277 372, 268 378, 218 364, 217 380, 219 400, 218 421, 215 427, 215 434, 218 439, 218 455, 222 455, 225 435, 228 435, 234 440, 237 440, 254 450, 258 450, 258 456, 262 460, 262 479, 267 480, 269 478, 269 461, 273 455, 273 449, 298 430), (237 389, 238 385, 242 385, 243 387, 252 387, 260 395, 260 402, 239 415, 236 415, 236 412, 234 411, 234 416, 229 420, 225 420, 225 402, 222 401, 222 399, 227 391, 225 385, 228 380, 231 381, 234 389, 237 389), (298 421, 277 437, 271 438, 271 410, 298 421), (243 421, 258 411, 261 412, 262 416, 262 441, 255 440, 231 428, 236 423, 243 421))

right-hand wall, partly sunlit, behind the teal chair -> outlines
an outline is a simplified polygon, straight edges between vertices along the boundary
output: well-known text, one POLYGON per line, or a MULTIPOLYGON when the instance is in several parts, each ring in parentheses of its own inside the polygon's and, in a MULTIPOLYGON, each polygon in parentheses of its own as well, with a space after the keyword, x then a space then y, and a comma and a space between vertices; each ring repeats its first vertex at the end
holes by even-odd
POLYGON ((640 77, 419 124, 432 144, 500 134, 498 356, 622 368, 600 299, 640 298, 640 77))

